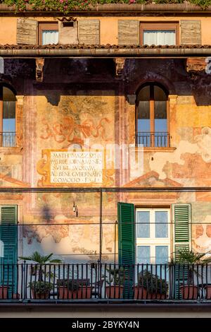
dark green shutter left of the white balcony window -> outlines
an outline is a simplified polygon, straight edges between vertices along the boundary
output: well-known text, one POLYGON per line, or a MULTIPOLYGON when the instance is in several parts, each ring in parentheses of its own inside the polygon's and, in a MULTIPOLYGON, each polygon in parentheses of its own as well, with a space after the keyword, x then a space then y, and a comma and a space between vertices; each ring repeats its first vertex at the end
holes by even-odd
MULTIPOLYGON (((134 242, 134 204, 117 203, 118 212, 118 243, 119 243, 119 264, 120 266, 132 265, 135 263, 135 242, 134 242)), ((124 283, 124 298, 133 297, 134 268, 126 267, 126 280, 124 283)))

